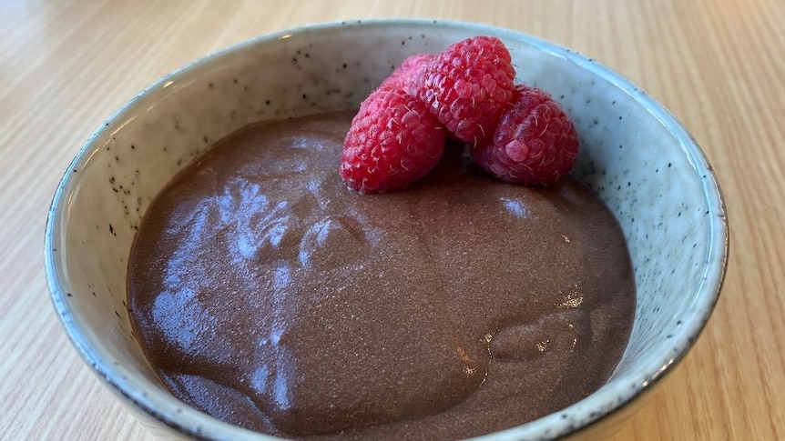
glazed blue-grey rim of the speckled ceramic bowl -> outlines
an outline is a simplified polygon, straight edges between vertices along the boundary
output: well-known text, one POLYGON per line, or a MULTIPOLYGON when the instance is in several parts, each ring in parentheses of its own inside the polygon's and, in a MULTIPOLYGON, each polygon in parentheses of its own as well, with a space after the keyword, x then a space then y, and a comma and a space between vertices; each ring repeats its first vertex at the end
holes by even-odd
MULTIPOLYGON (((206 439, 223 439, 224 436, 228 436, 231 439, 280 439, 277 437, 264 436, 263 434, 239 426, 229 425, 185 405, 180 405, 183 407, 183 411, 178 411, 176 414, 166 410, 159 410, 161 401, 156 399, 155 396, 151 397, 144 391, 139 394, 139 391, 135 389, 142 382, 131 379, 130 373, 124 366, 120 366, 117 363, 113 365, 110 360, 104 359, 97 353, 95 348, 89 345, 86 329, 76 323, 71 308, 68 306, 67 297, 71 296, 71 294, 63 290, 62 286, 64 281, 61 280, 57 270, 58 257, 56 244, 58 242, 56 239, 59 238, 59 235, 61 234, 59 231, 59 219, 66 216, 68 210, 70 196, 68 188, 73 181, 72 171, 81 169, 81 165, 86 164, 87 159, 100 148, 98 142, 102 137, 107 135, 118 121, 122 121, 127 115, 132 114, 140 103, 148 99, 153 99, 157 93, 167 85, 185 81, 189 78, 189 75, 198 74, 199 69, 202 67, 219 64, 226 56, 241 51, 245 47, 272 44, 275 40, 287 38, 290 35, 333 32, 343 26, 384 28, 387 26, 434 25, 443 29, 461 30, 467 34, 474 32, 475 35, 496 35, 503 40, 505 39, 505 36, 524 40, 528 45, 536 47, 542 52, 570 58, 579 67, 592 71, 594 75, 598 75, 607 82, 615 85, 625 94, 632 96, 647 109, 647 112, 652 115, 652 117, 656 118, 662 125, 667 126, 674 138, 678 140, 681 149, 688 156, 692 165, 694 165, 699 174, 703 175, 703 194, 707 199, 709 209, 712 210, 713 213, 719 214, 719 219, 715 219, 711 223, 712 228, 710 229, 710 242, 707 251, 708 263, 704 270, 702 282, 697 288, 697 292, 699 293, 697 298, 702 300, 700 304, 697 305, 698 314, 693 317, 693 320, 685 323, 686 326, 684 326, 682 333, 674 337, 674 341, 679 343, 679 347, 681 348, 678 354, 669 358, 662 366, 658 366, 654 369, 646 369, 646 379, 638 385, 639 388, 637 388, 631 396, 627 396, 623 400, 611 399, 612 396, 615 396, 612 394, 612 391, 600 388, 590 396, 557 411, 555 414, 543 416, 521 426, 514 426, 509 429, 494 432, 493 434, 488 434, 484 436, 484 439, 492 437, 496 441, 501 441, 522 439, 532 436, 537 436, 537 439, 555 439, 556 437, 573 435, 576 432, 583 431, 587 427, 595 426, 598 422, 607 419, 608 416, 612 416, 619 410, 626 408, 630 403, 637 401, 641 396, 647 395, 653 386, 660 384, 661 379, 668 376, 668 374, 673 371, 673 368, 687 356, 690 348, 695 344, 698 336, 700 336, 705 329, 709 317, 719 300, 719 293, 728 266, 729 224, 725 198, 719 187, 717 176, 711 165, 709 165, 707 156, 699 147, 696 140, 688 134, 684 125, 682 125, 663 105, 659 104, 657 100, 647 95, 637 85, 634 85, 627 80, 626 77, 586 55, 581 55, 566 46, 557 45, 556 43, 546 41, 537 36, 495 25, 459 20, 395 17, 371 18, 330 21, 291 27, 276 32, 257 35, 241 41, 240 43, 219 49, 208 55, 203 55, 197 60, 187 65, 183 65, 172 73, 161 77, 158 81, 149 85, 138 95, 127 101, 127 103, 120 107, 116 113, 110 115, 105 123, 89 137, 87 143, 79 149, 76 157, 72 160, 71 164, 66 169, 65 174, 59 181, 48 210, 44 245, 46 280, 51 301, 55 306, 57 316, 65 328, 66 335, 76 347, 79 355, 87 362, 87 365, 91 367, 93 373, 107 384, 112 391, 127 401, 127 403, 137 407, 143 414, 152 416, 160 423, 187 436, 206 439), (567 410, 574 412, 575 415, 584 417, 579 419, 576 425, 571 424, 566 426, 563 417, 559 414, 562 414, 567 410)), ((176 400, 173 396, 171 399, 176 400)))

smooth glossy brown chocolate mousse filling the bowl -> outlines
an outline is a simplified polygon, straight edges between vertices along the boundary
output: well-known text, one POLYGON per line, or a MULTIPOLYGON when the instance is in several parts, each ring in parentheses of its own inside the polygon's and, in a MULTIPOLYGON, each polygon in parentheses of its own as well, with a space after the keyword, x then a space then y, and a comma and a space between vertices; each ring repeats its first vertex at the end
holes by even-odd
POLYGON ((148 208, 130 256, 135 335, 179 399, 311 439, 454 439, 602 386, 635 285, 607 208, 572 176, 527 188, 462 145, 411 187, 348 190, 352 114, 251 125, 148 208))

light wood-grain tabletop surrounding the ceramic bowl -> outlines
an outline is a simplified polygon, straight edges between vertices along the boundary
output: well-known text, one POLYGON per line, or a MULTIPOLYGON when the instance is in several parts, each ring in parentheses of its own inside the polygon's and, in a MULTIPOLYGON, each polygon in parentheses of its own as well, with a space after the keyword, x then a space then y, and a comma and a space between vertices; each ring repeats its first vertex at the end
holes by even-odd
POLYGON ((77 356, 46 288, 46 210, 92 132, 201 55, 382 16, 542 36, 617 69, 682 120, 728 200, 729 272, 697 346, 615 439, 785 438, 785 2, 2 0, 0 439, 151 439, 77 356))

